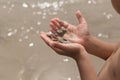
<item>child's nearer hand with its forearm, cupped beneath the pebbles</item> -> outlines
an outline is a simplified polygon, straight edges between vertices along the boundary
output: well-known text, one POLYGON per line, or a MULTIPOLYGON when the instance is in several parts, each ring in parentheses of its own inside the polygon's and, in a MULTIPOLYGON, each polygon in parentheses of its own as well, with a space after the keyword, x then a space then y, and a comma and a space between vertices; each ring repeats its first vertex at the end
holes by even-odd
POLYGON ((45 32, 41 32, 40 36, 56 53, 71 57, 76 61, 82 80, 98 80, 93 65, 89 60, 88 53, 82 45, 78 43, 63 44, 52 41, 45 32))

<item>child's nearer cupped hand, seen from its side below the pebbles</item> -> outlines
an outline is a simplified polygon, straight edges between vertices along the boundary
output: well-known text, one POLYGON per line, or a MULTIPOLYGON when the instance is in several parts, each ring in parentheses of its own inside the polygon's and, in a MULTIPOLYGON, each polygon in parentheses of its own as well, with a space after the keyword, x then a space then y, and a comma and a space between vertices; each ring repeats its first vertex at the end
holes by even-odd
POLYGON ((85 51, 84 47, 78 43, 60 43, 57 41, 51 40, 45 32, 41 32, 41 38, 44 40, 48 46, 50 46, 55 52, 60 55, 69 56, 76 59, 79 59, 80 55, 85 51))

